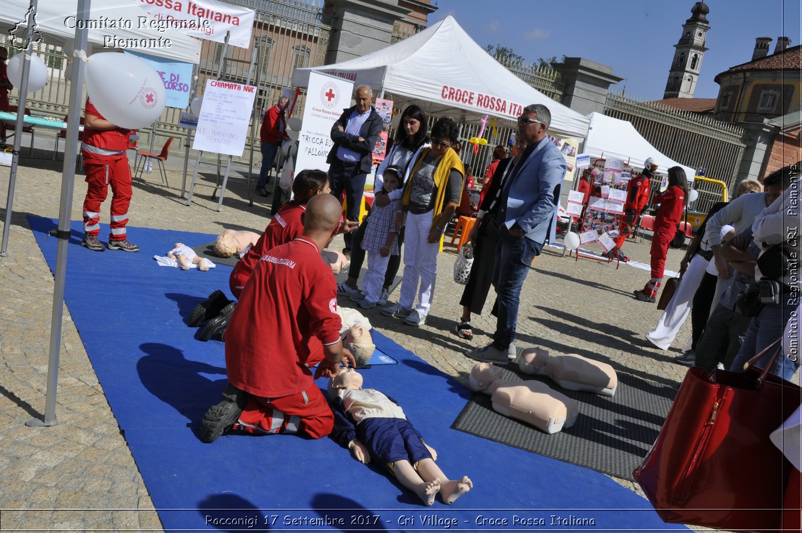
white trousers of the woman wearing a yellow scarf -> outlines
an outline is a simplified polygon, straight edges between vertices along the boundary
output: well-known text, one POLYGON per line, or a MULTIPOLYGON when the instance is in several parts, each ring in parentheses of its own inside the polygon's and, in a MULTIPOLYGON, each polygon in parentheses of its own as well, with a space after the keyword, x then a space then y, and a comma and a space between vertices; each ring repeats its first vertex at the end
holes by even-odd
POLYGON ((415 310, 419 315, 429 314, 431 295, 437 278, 437 252, 440 243, 426 242, 431 230, 431 211, 424 214, 407 213, 407 228, 403 236, 403 279, 399 303, 411 309, 418 294, 415 310), (420 288, 419 288, 420 287, 420 288))

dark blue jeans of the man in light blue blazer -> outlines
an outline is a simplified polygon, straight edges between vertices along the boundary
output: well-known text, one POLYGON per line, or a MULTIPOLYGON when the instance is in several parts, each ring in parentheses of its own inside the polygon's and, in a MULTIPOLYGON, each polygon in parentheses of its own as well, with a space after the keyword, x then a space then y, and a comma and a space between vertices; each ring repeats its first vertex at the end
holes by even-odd
POLYGON ((500 350, 506 350, 515 340, 520 289, 532 268, 532 260, 541 254, 542 248, 542 244, 526 237, 513 237, 506 228, 501 228, 496 245, 496 263, 493 265, 498 319, 493 344, 500 350))

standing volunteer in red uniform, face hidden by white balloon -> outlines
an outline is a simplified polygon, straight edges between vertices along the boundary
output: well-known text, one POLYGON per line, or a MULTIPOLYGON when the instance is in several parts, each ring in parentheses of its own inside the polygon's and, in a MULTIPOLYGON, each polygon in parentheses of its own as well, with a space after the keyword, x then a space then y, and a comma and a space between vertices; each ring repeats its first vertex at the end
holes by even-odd
POLYGON ((128 205, 131 204, 131 169, 128 167, 128 137, 131 130, 119 128, 103 118, 87 98, 81 155, 87 173, 87 197, 83 200, 83 235, 81 246, 102 252, 106 248, 98 240, 100 205, 106 200, 111 185, 111 234, 109 250, 136 252, 139 246, 128 242, 128 205))

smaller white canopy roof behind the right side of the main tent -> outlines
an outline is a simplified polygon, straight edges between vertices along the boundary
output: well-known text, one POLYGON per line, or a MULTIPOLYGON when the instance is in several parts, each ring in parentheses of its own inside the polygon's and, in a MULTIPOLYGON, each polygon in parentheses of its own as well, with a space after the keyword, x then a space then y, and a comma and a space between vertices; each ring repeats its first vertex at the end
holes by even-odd
POLYGON ((590 131, 585 140, 585 153, 595 157, 615 157, 625 163, 629 161, 634 169, 643 168, 643 161, 651 157, 658 165, 658 173, 666 174, 673 166, 681 166, 685 170, 688 180, 693 180, 696 171, 685 165, 680 165, 670 157, 664 156, 644 139, 638 130, 627 120, 614 119, 601 113, 593 112, 588 115, 590 131))

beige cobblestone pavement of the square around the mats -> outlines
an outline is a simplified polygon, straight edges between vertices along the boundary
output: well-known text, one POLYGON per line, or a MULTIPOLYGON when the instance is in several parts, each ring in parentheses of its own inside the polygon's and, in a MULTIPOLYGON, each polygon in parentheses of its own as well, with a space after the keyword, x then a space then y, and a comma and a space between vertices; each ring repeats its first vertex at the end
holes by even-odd
MULTIPOLYGON (((58 425, 30 428, 25 422, 44 412, 54 280, 26 222, 27 214, 58 218, 61 161, 46 148, 22 158, 14 195, 8 257, 0 258, 0 509, 2 531, 88 530, 159 531, 160 520, 124 437, 98 383, 69 311, 64 307, 60 350, 58 425), (112 511, 124 509, 125 511, 112 511)), ((50 144, 52 146, 52 144, 50 144)), ((23 150, 27 154, 26 150, 23 150)), ((215 234, 226 227, 260 231, 268 218, 264 199, 248 205, 245 179, 229 180, 223 210, 198 188, 191 207, 180 199, 180 149, 171 154, 171 188, 160 185, 156 171, 135 181, 130 210, 132 226, 170 228, 215 234)), ((191 158, 191 161, 194 161, 191 158)), ((207 167, 208 168, 208 167, 207 167)), ((241 169, 241 167, 239 167, 241 169)), ((190 165, 190 170, 192 165, 190 165)), ((0 167, 0 224, 5 219, 8 167, 0 167)), ((81 218, 83 176, 76 176, 72 220, 81 218)), ((101 223, 107 227, 108 203, 101 223)), ((136 242, 136 230, 130 234, 136 242)), ((341 238, 340 238, 341 239, 341 238)), ((626 252, 648 262, 649 245, 626 244, 626 252)), ((334 245, 336 246, 336 244, 334 245)), ((670 250, 668 267, 678 267, 683 252, 670 250)), ((686 368, 672 363, 679 349, 663 352, 643 338, 657 323, 654 304, 636 301, 632 290, 649 278, 647 271, 624 264, 562 257, 546 248, 537 258, 521 294, 518 346, 539 345, 553 353, 577 352, 608 361, 620 372, 666 384, 682 380, 686 368)), ((393 340, 443 372, 467 383, 473 361, 462 355, 484 345, 494 328, 488 310, 474 319, 472 342, 453 332, 459 319, 462 286, 452 280, 454 247, 439 255, 439 278, 427 324, 413 328, 368 310, 371 322, 393 340)), ((391 294, 397 298, 398 290, 391 294)), ((342 302, 343 304, 345 302, 342 302)), ((375 312, 374 312, 375 311, 375 312)), ((690 336, 690 321, 674 346, 690 336)), ((630 483, 622 482, 625 486, 630 483)))

